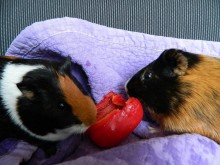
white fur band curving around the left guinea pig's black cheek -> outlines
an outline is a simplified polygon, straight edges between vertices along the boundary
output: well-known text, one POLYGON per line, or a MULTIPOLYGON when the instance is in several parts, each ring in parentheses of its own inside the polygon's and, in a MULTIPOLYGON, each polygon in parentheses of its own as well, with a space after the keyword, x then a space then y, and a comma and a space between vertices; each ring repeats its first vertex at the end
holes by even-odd
POLYGON ((17 98, 22 95, 21 91, 17 88, 17 83, 21 82, 23 76, 28 72, 44 68, 43 65, 19 65, 19 64, 7 64, 2 73, 2 79, 0 81, 0 95, 2 97, 2 102, 8 114, 14 124, 19 126, 23 131, 27 132, 29 135, 50 141, 63 140, 73 133, 83 133, 88 127, 84 124, 73 125, 71 127, 55 130, 55 133, 48 133, 47 135, 41 136, 31 132, 27 127, 25 127, 17 112, 17 98))

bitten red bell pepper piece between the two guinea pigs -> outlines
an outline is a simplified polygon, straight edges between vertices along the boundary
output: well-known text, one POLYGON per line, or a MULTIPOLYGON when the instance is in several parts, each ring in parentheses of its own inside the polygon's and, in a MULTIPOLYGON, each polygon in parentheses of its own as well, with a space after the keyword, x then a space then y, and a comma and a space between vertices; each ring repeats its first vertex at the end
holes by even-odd
POLYGON ((91 140, 109 148, 122 142, 141 122, 143 108, 136 98, 127 101, 119 94, 109 92, 96 105, 97 121, 88 129, 91 140))

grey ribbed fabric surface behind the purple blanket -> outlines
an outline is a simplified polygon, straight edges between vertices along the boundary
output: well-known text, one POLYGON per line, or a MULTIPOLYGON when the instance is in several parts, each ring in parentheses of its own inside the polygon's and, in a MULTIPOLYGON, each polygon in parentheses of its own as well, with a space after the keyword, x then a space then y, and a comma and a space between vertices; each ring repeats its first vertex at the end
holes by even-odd
POLYGON ((220 41, 219 0, 0 0, 0 53, 26 26, 64 16, 148 34, 220 41))

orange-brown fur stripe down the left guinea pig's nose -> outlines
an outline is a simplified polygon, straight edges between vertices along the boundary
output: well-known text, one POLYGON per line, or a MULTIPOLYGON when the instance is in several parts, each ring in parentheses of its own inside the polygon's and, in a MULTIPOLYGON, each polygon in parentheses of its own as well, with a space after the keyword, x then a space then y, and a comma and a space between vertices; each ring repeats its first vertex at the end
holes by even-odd
POLYGON ((93 124, 96 121, 96 106, 93 100, 84 95, 67 75, 58 74, 58 78, 66 101, 72 107, 72 113, 85 125, 93 124))

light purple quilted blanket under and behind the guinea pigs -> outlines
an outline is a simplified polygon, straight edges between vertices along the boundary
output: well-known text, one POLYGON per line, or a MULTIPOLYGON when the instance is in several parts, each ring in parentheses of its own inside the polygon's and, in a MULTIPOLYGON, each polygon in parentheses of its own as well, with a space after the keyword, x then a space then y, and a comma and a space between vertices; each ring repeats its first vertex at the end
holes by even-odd
MULTIPOLYGON (((71 56, 72 73, 84 82, 99 102, 110 90, 125 94, 125 82, 168 48, 220 57, 220 43, 184 40, 108 28, 74 18, 37 22, 24 29, 6 55, 22 58, 60 60, 71 56)), ((73 135, 60 142, 60 152, 46 159, 41 149, 23 141, 6 139, 0 143, 0 164, 220 164, 220 146, 197 135, 151 135, 149 123, 138 128, 119 146, 100 149, 86 135, 73 135)), ((207 128, 208 129, 208 128, 207 128)))

